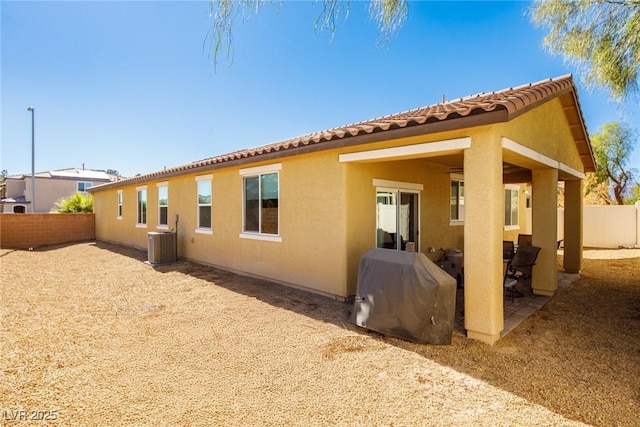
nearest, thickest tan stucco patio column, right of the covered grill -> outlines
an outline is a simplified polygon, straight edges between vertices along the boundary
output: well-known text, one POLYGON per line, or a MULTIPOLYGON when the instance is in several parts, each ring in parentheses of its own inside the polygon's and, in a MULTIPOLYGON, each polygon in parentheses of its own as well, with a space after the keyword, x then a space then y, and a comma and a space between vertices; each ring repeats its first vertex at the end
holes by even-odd
POLYGON ((467 336, 488 344, 504 329, 502 146, 474 138, 464 151, 464 319, 467 336))

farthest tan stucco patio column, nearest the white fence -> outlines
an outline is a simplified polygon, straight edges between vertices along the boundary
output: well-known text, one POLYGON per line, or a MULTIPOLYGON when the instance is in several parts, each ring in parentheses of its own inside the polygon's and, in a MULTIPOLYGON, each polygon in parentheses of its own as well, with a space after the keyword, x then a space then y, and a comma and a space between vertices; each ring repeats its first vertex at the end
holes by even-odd
POLYGON ((580 273, 582 268, 583 181, 564 183, 564 271, 580 273))

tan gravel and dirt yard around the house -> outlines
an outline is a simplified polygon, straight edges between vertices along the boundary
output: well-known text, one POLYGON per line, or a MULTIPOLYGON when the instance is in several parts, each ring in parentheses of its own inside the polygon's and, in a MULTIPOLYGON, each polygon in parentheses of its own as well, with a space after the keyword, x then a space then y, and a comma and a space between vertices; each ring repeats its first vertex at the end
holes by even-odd
POLYGON ((120 246, 2 250, 0 425, 637 425, 640 250, 597 252, 496 345, 431 346, 120 246))

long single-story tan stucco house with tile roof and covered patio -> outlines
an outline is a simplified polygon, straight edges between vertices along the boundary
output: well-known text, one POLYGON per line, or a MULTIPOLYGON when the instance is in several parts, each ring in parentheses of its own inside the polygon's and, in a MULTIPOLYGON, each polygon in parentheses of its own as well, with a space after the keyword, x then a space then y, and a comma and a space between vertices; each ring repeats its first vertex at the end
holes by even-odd
MULTIPOLYGON (((146 248, 177 231, 178 255, 336 298, 356 291, 372 247, 464 250, 465 327, 493 343, 503 319, 502 240, 522 232, 532 190, 534 292, 582 262, 582 180, 595 162, 571 76, 482 93, 195 161, 89 189, 99 240, 146 248)), ((433 257, 433 254, 428 254, 433 257)))

